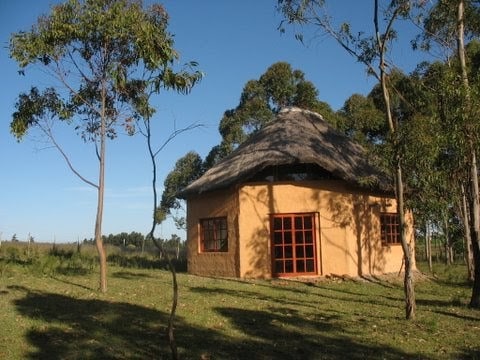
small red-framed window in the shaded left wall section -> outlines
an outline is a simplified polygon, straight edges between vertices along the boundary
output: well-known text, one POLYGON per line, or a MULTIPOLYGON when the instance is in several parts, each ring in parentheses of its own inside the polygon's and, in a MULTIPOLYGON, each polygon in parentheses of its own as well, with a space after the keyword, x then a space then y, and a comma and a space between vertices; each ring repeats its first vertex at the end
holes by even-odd
POLYGON ((227 218, 200 220, 200 248, 203 252, 228 251, 227 218))

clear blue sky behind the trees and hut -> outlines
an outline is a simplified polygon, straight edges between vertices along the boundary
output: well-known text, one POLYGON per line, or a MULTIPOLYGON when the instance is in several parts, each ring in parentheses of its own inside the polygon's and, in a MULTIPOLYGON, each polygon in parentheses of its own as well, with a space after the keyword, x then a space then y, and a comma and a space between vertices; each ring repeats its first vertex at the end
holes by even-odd
MULTIPOLYGON (((76 178, 60 154, 32 132, 22 142, 10 134, 16 98, 32 85, 46 87, 39 68, 17 74, 8 56, 12 32, 28 30, 53 0, 0 0, 0 236, 24 240, 72 242, 93 237, 96 192, 76 178)), ((148 1, 146 3, 149 3, 148 1)), ((195 60, 205 73, 187 96, 162 94, 154 99, 157 113, 155 141, 161 144, 174 130, 191 123, 204 126, 177 137, 159 157, 159 192, 176 160, 190 150, 204 157, 220 141, 218 123, 225 110, 238 105, 245 83, 257 79, 272 64, 289 62, 302 70, 319 90, 319 98, 339 109, 353 93, 367 94, 374 84, 365 68, 326 36, 294 39, 293 30, 280 34, 280 16, 272 0, 167 0, 180 64, 195 60)), ((351 21, 355 29, 370 30, 373 1, 331 1, 330 14, 351 21)), ((396 43, 396 64, 411 71, 421 54, 412 53, 409 40, 396 43)), ((79 171, 95 180, 97 162, 91 144, 84 144, 72 129, 59 128, 57 137, 79 171)), ((151 224, 151 167, 141 136, 122 135, 108 143, 103 233, 147 233, 151 224)), ((171 221, 158 236, 172 233, 185 238, 171 221)))

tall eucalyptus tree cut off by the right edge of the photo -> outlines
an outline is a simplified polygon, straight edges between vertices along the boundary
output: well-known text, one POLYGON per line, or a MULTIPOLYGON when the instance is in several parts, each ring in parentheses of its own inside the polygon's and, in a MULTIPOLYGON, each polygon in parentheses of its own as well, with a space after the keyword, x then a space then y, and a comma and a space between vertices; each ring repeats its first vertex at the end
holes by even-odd
MULTIPOLYGON (((479 86, 478 43, 480 34, 480 4, 473 0, 441 0, 427 9, 423 19, 424 32, 419 47, 436 49, 446 54, 449 66, 443 82, 446 93, 445 122, 448 123, 454 148, 459 156, 459 169, 468 169, 460 184, 465 195, 461 208, 465 236, 471 242, 474 262, 474 283, 470 306, 480 308, 480 192, 478 183, 479 147, 479 86), (470 48, 470 51, 469 51, 470 48), (469 54, 470 52, 470 54, 469 54)), ((467 245, 468 247, 468 245, 467 245)))

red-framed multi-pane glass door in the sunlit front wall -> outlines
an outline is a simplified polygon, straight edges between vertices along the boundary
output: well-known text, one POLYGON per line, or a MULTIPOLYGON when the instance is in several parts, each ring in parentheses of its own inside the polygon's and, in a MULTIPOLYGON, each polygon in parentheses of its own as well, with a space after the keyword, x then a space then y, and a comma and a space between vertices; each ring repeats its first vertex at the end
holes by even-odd
POLYGON ((272 275, 316 275, 315 213, 272 214, 272 275))

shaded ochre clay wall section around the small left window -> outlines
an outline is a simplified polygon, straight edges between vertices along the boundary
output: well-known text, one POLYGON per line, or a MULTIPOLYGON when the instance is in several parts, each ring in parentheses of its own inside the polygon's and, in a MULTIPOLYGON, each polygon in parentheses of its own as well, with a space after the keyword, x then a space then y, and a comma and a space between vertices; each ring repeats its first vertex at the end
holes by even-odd
POLYGON ((202 276, 239 277, 237 192, 215 191, 187 201, 188 272, 202 276), (227 217, 228 252, 200 252, 200 220, 227 217))

